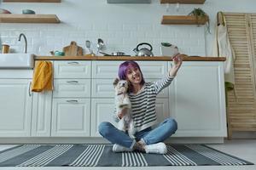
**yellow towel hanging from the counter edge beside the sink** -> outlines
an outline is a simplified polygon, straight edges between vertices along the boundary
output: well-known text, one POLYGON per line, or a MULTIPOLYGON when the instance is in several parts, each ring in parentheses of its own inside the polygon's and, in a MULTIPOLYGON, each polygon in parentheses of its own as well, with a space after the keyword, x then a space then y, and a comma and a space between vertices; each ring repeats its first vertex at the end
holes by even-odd
POLYGON ((37 61, 32 80, 32 92, 53 90, 53 71, 50 61, 37 61))

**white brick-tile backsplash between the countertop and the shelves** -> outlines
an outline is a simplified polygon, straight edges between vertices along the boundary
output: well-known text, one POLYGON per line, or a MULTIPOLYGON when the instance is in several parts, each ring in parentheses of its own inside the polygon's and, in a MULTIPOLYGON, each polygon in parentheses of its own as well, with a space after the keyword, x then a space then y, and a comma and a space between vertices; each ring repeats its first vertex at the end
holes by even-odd
MULTIPOLYGON (((201 35, 203 27, 187 26, 180 30, 176 27, 168 31, 155 31, 152 23, 123 24, 112 23, 90 24, 91 31, 83 29, 82 26, 68 28, 66 23, 59 25, 29 25, 24 24, 3 24, 1 29, 1 40, 8 43, 13 52, 20 53, 23 51, 24 42, 18 42, 18 37, 23 32, 27 37, 28 52, 40 55, 49 55, 49 51, 61 50, 64 46, 69 45, 71 41, 78 42, 79 46, 85 48, 85 41, 89 39, 93 42, 92 47, 96 51, 96 40, 101 37, 106 42, 107 53, 113 51, 124 51, 126 54, 134 54, 133 48, 136 48, 140 42, 149 42, 154 47, 154 54, 160 55, 160 42, 172 42, 180 48, 185 54, 205 55, 204 43, 205 37, 201 35), (115 25, 117 27, 115 27, 115 25), (38 26, 40 29, 38 29, 38 26), (13 27, 13 28, 12 28, 13 27), (201 30, 197 31, 197 30, 201 30), (195 41, 191 41, 190 37, 196 31, 195 41), (198 42, 201 42, 200 44, 198 42), (193 48, 196 48, 193 49, 193 48), (191 49, 192 48, 192 49, 191 49)), ((88 53, 88 49, 85 48, 88 53)))

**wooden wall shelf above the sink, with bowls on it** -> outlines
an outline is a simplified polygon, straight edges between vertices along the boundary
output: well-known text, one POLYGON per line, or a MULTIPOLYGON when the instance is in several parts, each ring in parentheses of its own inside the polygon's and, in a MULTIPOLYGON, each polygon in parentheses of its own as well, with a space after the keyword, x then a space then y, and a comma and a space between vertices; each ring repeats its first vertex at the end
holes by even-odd
POLYGON ((60 23, 55 14, 0 14, 0 23, 60 23))

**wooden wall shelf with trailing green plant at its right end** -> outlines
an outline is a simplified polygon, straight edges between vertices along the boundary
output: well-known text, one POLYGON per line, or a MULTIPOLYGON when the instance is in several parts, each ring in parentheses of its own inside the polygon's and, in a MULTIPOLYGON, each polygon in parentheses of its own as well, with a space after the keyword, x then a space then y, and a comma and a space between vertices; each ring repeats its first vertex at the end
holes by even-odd
POLYGON ((164 15, 161 24, 163 25, 205 25, 209 19, 189 15, 164 15))

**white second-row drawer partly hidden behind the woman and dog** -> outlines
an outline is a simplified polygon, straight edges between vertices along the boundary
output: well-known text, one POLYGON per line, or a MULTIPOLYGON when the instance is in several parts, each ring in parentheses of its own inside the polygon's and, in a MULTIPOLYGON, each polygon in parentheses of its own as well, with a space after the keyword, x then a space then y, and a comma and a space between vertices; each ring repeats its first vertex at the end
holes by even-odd
MULTIPOLYGON (((145 79, 146 82, 154 82, 156 79, 145 79)), ((168 98, 169 88, 163 89, 157 98, 168 98)), ((92 98, 114 98, 113 79, 92 79, 92 98)))

